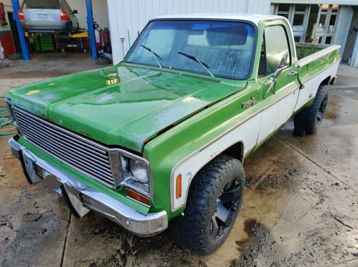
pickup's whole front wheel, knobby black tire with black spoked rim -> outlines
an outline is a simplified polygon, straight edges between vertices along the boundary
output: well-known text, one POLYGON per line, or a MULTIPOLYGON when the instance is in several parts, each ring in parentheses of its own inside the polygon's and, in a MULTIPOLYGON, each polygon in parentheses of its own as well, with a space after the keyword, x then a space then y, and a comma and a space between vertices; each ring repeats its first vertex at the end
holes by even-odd
POLYGON ((169 234, 199 254, 216 251, 225 242, 239 213, 245 187, 242 163, 219 155, 193 178, 184 209, 169 221, 169 234))

